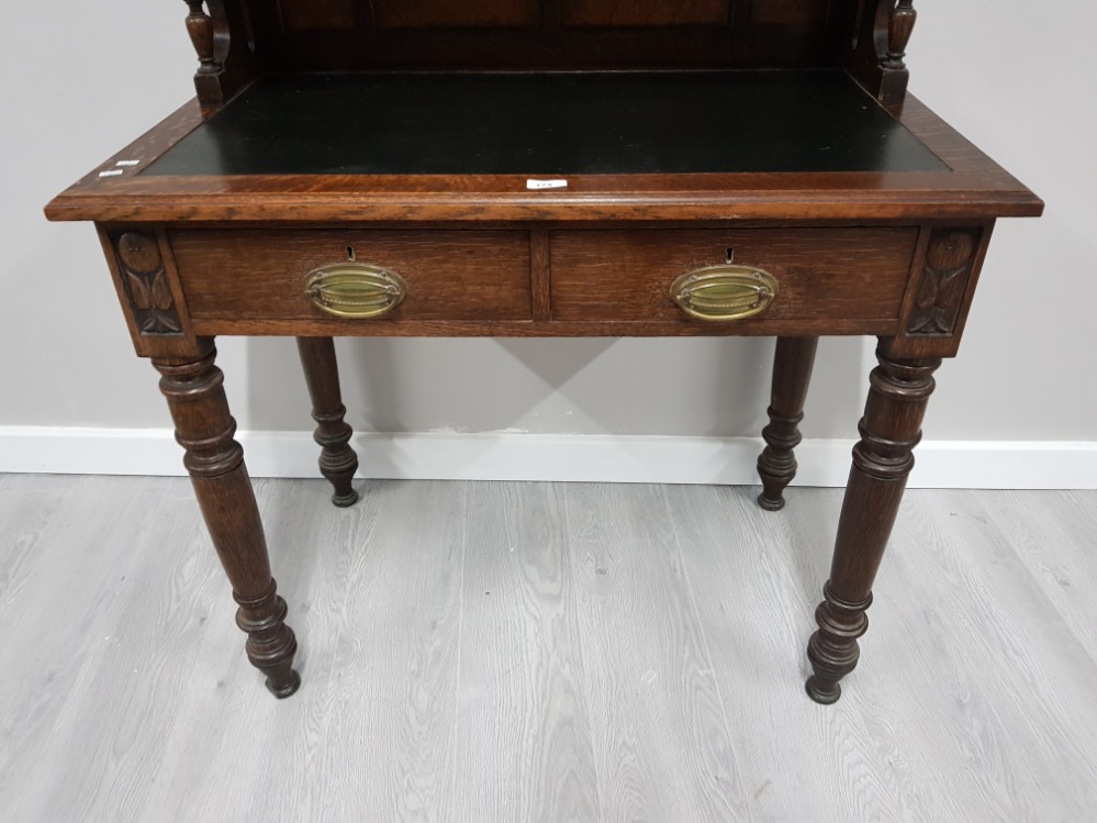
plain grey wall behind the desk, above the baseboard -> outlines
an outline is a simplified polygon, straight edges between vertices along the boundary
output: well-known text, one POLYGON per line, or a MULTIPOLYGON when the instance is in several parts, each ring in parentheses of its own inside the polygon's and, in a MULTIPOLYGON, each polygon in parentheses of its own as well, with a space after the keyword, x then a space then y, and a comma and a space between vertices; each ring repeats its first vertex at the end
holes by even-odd
MULTIPOLYGON (((964 351, 930 408, 933 440, 1097 441, 1097 84, 1076 32, 1090 0, 924 3, 913 90, 1043 196, 1004 221, 964 351), (1023 44, 1023 47, 1022 47, 1023 44)), ((164 427, 88 225, 41 209, 192 94, 186 7, 21 3, 3 15, 0 426, 164 427)), ((292 342, 220 343, 243 429, 311 427, 292 342)), ((770 341, 343 341, 359 430, 753 435, 770 341)), ((827 340, 808 437, 852 437, 871 345, 827 340)))

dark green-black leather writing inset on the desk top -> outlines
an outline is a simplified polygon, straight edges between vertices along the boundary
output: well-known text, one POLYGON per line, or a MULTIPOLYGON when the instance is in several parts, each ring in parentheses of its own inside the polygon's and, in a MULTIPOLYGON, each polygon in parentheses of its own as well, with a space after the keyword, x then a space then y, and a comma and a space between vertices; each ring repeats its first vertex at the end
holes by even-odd
POLYGON ((841 71, 267 75, 160 175, 947 171, 841 71))

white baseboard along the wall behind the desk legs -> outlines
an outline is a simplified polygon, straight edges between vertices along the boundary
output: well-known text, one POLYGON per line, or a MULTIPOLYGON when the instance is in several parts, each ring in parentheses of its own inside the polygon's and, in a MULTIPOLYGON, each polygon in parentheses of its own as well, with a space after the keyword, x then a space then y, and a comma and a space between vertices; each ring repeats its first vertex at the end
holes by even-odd
MULTIPOLYGON (((317 446, 304 432, 240 432, 254 477, 316 477, 317 446)), ((758 482, 752 437, 569 434, 359 434, 362 476, 437 480, 758 482)), ((798 486, 841 487, 852 441, 805 441, 798 486)), ((1097 489, 1097 443, 926 442, 911 488, 1097 489)), ((0 472, 184 474, 167 430, 0 427, 0 472)))

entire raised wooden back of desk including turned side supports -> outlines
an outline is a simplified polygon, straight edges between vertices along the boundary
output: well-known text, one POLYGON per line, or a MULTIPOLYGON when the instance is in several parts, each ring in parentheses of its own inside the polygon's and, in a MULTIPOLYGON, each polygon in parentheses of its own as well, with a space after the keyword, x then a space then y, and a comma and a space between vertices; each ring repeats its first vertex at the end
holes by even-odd
POLYGON ((264 71, 377 69, 841 67, 897 102, 914 23, 911 0, 187 2, 206 107, 264 71))

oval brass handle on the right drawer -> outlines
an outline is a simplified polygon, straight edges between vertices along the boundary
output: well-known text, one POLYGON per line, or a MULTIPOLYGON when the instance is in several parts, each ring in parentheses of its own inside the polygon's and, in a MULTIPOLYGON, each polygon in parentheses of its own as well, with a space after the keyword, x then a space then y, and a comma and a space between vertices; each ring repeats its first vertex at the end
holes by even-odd
POLYGON ((697 320, 743 320, 765 311, 780 291, 769 271, 750 266, 709 266, 682 275, 671 299, 697 320))

